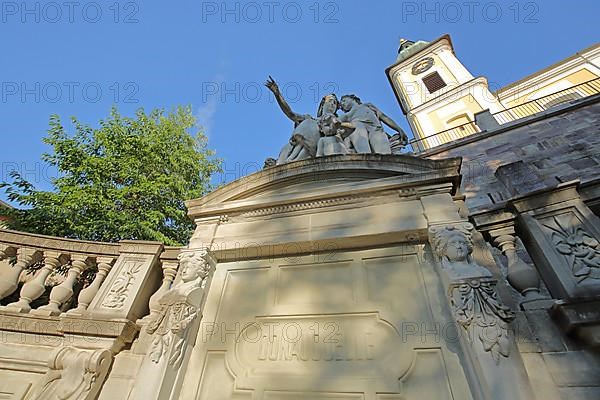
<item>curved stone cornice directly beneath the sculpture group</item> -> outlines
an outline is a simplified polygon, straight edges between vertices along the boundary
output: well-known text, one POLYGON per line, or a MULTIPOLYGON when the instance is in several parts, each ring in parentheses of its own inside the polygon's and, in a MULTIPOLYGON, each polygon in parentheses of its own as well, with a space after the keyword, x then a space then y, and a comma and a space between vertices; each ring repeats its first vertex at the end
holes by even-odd
POLYGON ((267 168, 186 205, 188 214, 198 220, 292 204, 339 203, 344 198, 352 202, 348 199, 408 187, 416 194, 419 187, 436 184, 450 183, 446 191, 453 194, 460 183, 460 165, 460 158, 428 160, 410 155, 318 157, 267 168))

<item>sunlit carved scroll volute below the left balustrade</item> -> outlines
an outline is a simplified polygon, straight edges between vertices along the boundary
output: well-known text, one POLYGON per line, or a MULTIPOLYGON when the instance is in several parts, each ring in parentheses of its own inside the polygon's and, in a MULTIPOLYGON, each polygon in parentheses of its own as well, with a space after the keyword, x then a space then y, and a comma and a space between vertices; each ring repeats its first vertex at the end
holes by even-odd
POLYGON ((50 370, 28 400, 91 400, 102 387, 112 362, 110 350, 60 347, 50 357, 50 370))

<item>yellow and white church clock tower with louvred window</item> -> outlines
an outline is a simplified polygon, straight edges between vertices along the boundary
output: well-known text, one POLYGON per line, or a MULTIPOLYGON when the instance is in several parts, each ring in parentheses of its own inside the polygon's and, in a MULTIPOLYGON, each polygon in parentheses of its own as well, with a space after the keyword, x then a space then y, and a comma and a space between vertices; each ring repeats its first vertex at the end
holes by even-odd
POLYGON ((386 74, 421 150, 478 132, 479 112, 504 110, 487 79, 475 78, 456 58, 449 35, 432 42, 401 39, 386 74))

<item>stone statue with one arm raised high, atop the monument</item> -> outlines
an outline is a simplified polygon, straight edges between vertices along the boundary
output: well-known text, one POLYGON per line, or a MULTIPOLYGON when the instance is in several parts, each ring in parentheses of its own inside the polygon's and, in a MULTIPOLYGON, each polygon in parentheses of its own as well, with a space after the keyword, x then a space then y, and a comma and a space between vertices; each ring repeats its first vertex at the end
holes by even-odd
POLYGON ((321 138, 318 120, 327 115, 336 114, 339 107, 337 96, 330 94, 323 97, 317 110, 317 118, 313 118, 311 115, 297 114, 292 111, 272 77, 269 76, 265 86, 273 92, 283 113, 294 122, 294 131, 290 141, 281 149, 276 164, 316 157, 317 145, 321 138))

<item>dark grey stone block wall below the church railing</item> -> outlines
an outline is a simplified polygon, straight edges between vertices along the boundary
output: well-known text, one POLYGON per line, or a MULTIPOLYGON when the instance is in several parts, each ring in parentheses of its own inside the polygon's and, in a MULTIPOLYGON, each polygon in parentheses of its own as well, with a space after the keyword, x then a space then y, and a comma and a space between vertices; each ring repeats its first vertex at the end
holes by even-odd
POLYGON ((462 157, 461 190, 469 209, 476 211, 522 192, 574 179, 583 183, 598 178, 599 131, 600 97, 594 96, 436 147, 420 156, 462 157), (509 180, 516 187, 510 187, 509 180))

